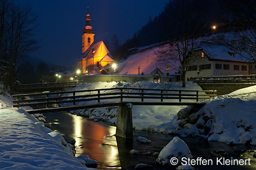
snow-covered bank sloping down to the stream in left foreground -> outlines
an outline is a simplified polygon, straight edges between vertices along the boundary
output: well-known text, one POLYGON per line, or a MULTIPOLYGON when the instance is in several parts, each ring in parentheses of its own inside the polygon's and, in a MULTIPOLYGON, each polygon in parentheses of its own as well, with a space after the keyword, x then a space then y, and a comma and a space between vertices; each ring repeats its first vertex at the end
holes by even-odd
POLYGON ((71 144, 0 95, 1 169, 92 169, 73 155, 71 144))

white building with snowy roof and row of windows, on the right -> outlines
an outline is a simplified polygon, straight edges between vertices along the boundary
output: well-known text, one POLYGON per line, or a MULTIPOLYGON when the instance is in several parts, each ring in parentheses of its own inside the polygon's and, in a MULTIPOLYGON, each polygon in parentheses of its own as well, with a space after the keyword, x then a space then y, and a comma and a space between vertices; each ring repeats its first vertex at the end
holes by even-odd
MULTIPOLYGON (((247 75, 249 74, 249 61, 239 52, 230 51, 221 45, 209 45, 198 49, 192 55, 187 71, 187 80, 192 77, 247 75)), ((243 54, 245 55, 245 54, 243 54)), ((251 66, 253 67, 253 66, 251 66)))

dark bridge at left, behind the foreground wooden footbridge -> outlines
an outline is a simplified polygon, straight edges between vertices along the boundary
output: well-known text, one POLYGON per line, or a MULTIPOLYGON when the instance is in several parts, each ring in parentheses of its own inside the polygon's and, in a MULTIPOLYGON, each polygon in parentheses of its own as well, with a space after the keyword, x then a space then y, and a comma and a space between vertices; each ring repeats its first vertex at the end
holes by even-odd
POLYGON ((47 82, 38 84, 20 84, 14 86, 14 90, 20 93, 31 93, 31 92, 44 92, 44 91, 65 91, 67 89, 74 88, 83 81, 68 81, 68 82, 47 82))

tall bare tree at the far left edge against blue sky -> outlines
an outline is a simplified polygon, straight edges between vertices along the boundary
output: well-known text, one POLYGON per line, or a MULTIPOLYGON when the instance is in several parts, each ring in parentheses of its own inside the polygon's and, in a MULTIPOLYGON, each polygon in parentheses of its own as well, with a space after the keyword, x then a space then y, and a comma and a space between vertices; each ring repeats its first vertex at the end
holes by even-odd
POLYGON ((10 86, 15 78, 16 59, 24 53, 34 51, 38 47, 33 38, 37 16, 30 7, 19 7, 13 1, 3 0, 1 13, 1 59, 7 63, 4 85, 10 86))

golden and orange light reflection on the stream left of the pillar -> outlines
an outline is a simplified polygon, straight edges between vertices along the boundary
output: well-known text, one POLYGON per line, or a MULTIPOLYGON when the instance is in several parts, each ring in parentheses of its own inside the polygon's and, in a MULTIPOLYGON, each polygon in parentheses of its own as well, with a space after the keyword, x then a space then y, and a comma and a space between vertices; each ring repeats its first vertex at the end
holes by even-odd
POLYGON ((91 159, 104 163, 109 168, 121 169, 117 140, 114 136, 116 127, 104 126, 75 115, 72 115, 72 118, 76 156, 89 155, 91 159))

